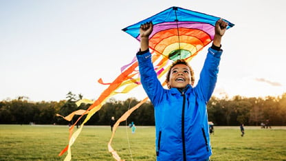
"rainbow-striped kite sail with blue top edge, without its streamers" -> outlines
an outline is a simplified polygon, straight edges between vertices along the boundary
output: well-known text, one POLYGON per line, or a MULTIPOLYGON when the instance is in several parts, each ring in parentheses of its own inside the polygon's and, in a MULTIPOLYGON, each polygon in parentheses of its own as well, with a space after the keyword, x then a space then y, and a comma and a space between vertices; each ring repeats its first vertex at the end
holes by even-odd
MULTIPOLYGON (((213 40, 214 25, 219 19, 201 12, 171 7, 122 30, 140 41, 140 25, 152 22, 149 47, 173 61, 188 60, 213 40)), ((234 26, 225 19, 223 21, 228 22, 228 28, 234 26)))

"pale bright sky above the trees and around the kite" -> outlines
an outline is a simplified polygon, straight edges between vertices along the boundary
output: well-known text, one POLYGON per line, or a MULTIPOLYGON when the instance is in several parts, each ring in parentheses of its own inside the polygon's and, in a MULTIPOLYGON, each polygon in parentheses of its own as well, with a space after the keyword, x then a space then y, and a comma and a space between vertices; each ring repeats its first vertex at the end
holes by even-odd
MULTIPOLYGON (((283 0, 0 0, 0 100, 96 100, 140 43, 122 28, 178 6, 227 19, 213 96, 265 97, 286 92, 283 0)), ((207 48, 190 61, 196 79, 207 48)), ((146 97, 142 86, 115 99, 146 97)))

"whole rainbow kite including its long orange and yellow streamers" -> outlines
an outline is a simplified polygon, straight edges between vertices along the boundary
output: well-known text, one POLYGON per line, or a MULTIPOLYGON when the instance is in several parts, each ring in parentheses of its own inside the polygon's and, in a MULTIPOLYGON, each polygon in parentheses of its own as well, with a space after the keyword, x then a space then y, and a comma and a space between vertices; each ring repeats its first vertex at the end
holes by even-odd
MULTIPOLYGON (((185 59, 185 61, 188 62, 197 55, 203 47, 206 47, 206 45, 212 42, 214 38, 214 25, 219 19, 219 17, 214 17, 209 14, 203 14, 201 12, 186 10, 179 7, 171 7, 148 19, 129 25, 122 30, 133 36, 137 41, 140 41, 140 25, 142 23, 153 22, 153 32, 149 36, 149 48, 151 49, 155 72, 157 73, 157 77, 161 78, 168 71, 170 64, 173 61, 185 59)), ((234 26, 233 23, 230 23, 225 19, 223 19, 223 21, 228 22, 227 29, 234 26)), ((87 99, 78 101, 78 105, 80 103, 91 103, 92 105, 89 106, 87 110, 77 110, 66 117, 57 114, 57 116, 61 116, 66 120, 71 120, 74 115, 81 115, 74 125, 69 128, 69 144, 67 144, 67 147, 59 154, 63 155, 63 153, 67 151, 65 160, 72 159, 72 144, 76 141, 76 138, 79 136, 85 123, 96 113, 96 111, 100 110, 105 101, 115 94, 128 93, 141 84, 137 67, 137 59, 133 58, 131 63, 124 65, 121 68, 121 74, 115 78, 112 83, 104 83, 100 78, 98 83, 109 85, 109 87, 107 87, 95 101, 87 99), (87 117, 80 125, 80 128, 74 132, 74 126, 84 115, 87 115, 87 117)), ((162 85, 165 84, 166 83, 162 83, 162 85)), ((139 108, 140 105, 145 103, 146 100, 148 100, 147 97, 126 111, 126 113, 115 122, 112 136, 107 146, 115 160, 121 160, 118 153, 111 147, 116 128, 120 122, 126 120, 128 116, 130 116, 135 109, 139 108)))

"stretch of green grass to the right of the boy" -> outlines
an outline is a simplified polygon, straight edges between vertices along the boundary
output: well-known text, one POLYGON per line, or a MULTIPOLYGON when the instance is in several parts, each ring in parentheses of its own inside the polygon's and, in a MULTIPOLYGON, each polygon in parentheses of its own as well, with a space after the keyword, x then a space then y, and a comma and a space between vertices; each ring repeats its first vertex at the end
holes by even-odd
POLYGON ((212 160, 286 160, 286 129, 245 127, 216 129, 211 136, 212 160))

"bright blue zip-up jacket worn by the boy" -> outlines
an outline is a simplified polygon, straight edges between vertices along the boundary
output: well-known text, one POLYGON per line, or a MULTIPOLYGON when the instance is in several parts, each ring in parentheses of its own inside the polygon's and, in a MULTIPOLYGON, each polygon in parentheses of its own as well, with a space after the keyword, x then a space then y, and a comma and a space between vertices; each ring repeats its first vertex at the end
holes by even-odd
POLYGON ((208 49, 196 87, 164 89, 150 52, 137 54, 143 88, 155 109, 157 160, 207 160, 212 154, 206 105, 219 72, 221 51, 208 49))

